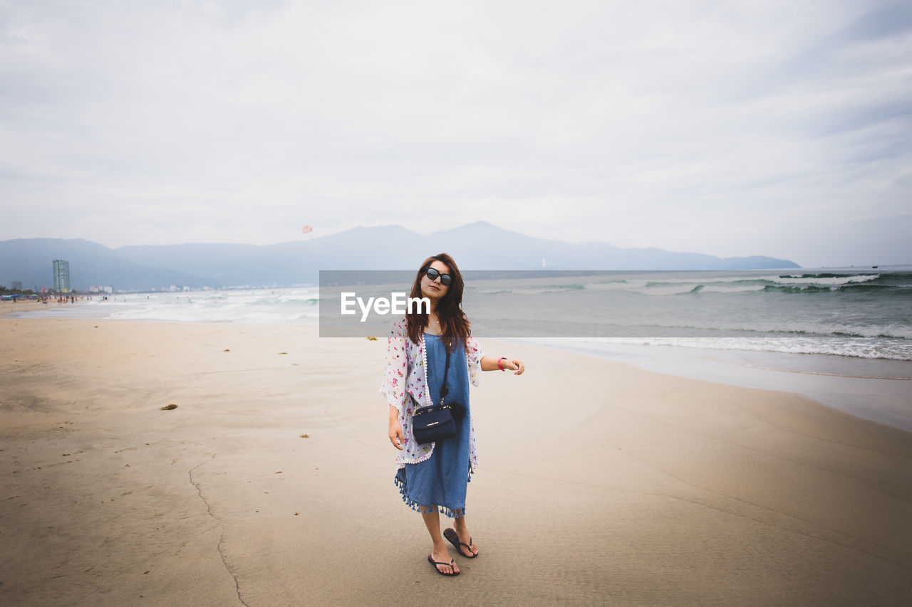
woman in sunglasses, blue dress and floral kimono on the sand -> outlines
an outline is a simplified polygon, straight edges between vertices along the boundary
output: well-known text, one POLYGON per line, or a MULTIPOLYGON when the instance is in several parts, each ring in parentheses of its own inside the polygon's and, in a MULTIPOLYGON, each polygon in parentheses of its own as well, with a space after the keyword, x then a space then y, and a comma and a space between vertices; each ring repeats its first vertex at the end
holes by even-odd
POLYGON ((520 360, 482 353, 461 310, 462 288, 459 268, 447 253, 429 257, 421 264, 410 296, 427 297, 430 314, 424 314, 422 309, 389 325, 386 376, 380 387, 389 403, 389 440, 399 449, 395 483, 402 500, 424 518, 433 541, 428 561, 440 575, 460 572, 443 538, 463 557, 478 556, 465 521, 466 485, 478 466, 469 383, 478 386, 480 371, 510 369, 513 375, 520 376, 525 370, 520 360), (450 365, 446 370, 448 349, 450 365), (456 436, 419 445, 412 435, 412 414, 418 407, 440 403, 445 371, 445 403, 464 407, 454 410, 456 436), (445 530, 442 537, 440 511, 454 519, 455 528, 445 530))

